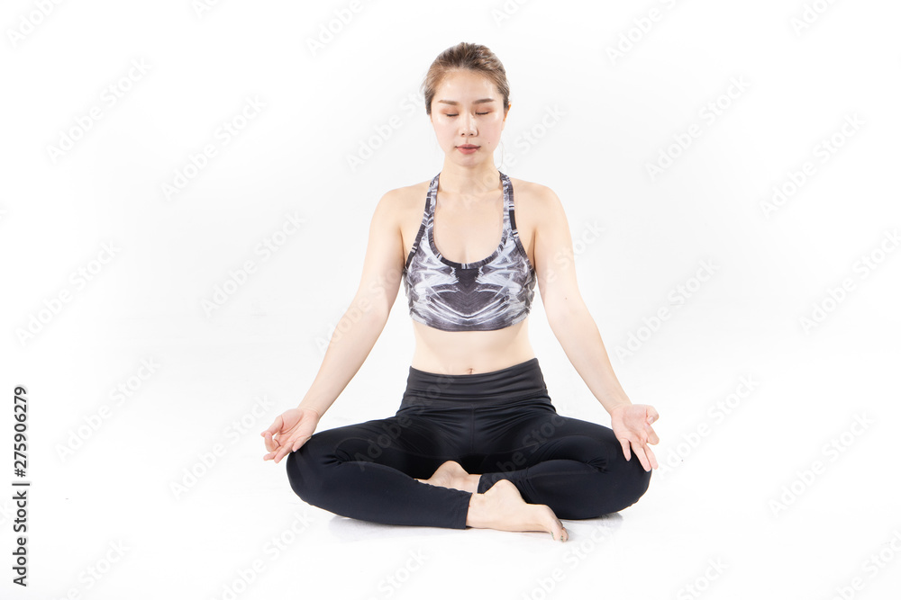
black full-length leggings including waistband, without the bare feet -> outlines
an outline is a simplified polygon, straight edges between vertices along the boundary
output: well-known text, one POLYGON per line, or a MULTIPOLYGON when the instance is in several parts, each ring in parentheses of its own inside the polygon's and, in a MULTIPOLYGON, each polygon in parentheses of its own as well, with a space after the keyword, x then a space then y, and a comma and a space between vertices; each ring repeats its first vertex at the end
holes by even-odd
POLYGON ((286 464, 297 496, 336 515, 465 529, 471 492, 416 480, 444 461, 481 473, 479 494, 509 479, 560 519, 623 510, 651 483, 609 427, 557 414, 537 357, 470 375, 411 366, 395 416, 316 432, 286 464))

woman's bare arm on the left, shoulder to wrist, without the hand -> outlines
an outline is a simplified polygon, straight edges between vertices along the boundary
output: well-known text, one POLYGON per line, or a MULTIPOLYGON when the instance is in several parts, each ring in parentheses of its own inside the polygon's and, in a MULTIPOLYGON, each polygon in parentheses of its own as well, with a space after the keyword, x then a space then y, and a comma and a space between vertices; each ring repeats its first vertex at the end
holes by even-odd
POLYGON ((298 408, 323 416, 359 371, 387 323, 404 268, 399 192, 382 196, 369 224, 359 288, 332 333, 319 372, 298 408))

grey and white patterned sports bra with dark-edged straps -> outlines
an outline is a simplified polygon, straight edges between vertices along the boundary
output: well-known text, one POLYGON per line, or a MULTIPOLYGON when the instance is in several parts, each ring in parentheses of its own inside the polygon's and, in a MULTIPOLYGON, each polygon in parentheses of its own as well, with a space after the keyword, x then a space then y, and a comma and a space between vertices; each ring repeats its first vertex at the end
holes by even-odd
POLYGON ((504 230, 495 251, 474 263, 448 260, 435 246, 435 175, 425 196, 423 222, 406 258, 403 281, 410 316, 444 331, 492 331, 519 323, 532 309, 535 269, 519 239, 513 184, 504 187, 504 230))

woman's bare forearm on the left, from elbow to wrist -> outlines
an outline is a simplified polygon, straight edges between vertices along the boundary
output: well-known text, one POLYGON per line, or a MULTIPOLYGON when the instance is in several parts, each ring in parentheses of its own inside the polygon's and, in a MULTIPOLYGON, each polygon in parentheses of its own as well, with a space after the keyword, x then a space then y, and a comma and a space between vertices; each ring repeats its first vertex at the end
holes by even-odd
POLYGON ((311 408, 323 416, 369 356, 386 321, 387 315, 376 310, 356 311, 351 305, 338 321, 323 364, 298 407, 311 408))

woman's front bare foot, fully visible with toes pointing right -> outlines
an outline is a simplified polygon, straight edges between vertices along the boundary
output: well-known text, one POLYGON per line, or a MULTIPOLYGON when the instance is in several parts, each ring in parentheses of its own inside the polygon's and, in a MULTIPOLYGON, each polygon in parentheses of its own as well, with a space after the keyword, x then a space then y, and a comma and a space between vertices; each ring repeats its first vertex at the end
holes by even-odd
POLYGON ((466 524, 504 532, 550 532, 552 540, 569 540, 569 532, 551 506, 526 503, 509 479, 498 479, 484 494, 469 498, 466 524))

